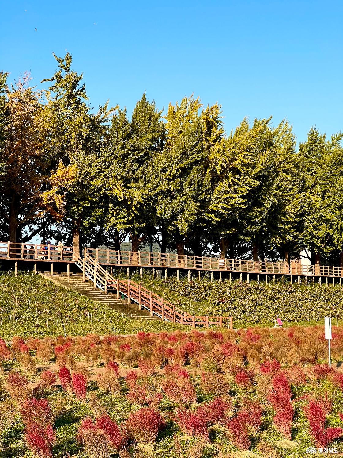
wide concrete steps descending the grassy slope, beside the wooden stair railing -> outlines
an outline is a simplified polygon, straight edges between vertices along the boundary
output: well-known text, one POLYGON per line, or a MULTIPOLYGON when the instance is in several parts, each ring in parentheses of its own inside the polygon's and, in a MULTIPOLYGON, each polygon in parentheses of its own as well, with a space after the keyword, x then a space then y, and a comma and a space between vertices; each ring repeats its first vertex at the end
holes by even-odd
POLYGON ((70 273, 70 276, 68 277, 66 273, 59 273, 51 276, 50 273, 44 272, 43 276, 60 286, 73 289, 83 296, 89 297, 91 300, 102 302, 109 308, 113 309, 113 311, 116 311, 128 318, 134 318, 137 320, 156 319, 155 317, 151 317, 148 311, 139 310, 137 304, 128 304, 127 300, 117 299, 115 294, 105 294, 101 289, 94 288, 94 283, 90 279, 86 278, 86 281, 83 282, 82 273, 70 273))

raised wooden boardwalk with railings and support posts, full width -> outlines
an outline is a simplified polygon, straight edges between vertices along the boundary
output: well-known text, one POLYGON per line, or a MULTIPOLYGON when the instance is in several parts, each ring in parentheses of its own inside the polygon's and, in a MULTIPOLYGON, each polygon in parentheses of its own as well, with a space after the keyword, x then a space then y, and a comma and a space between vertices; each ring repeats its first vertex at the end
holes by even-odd
MULTIPOLYGON (((290 278, 290 281, 300 282, 305 278, 306 282, 316 280, 321 284, 323 281, 342 286, 343 268, 335 266, 310 265, 303 266, 300 262, 286 263, 262 262, 241 259, 221 259, 218 257, 177 255, 175 253, 160 253, 148 251, 117 251, 101 248, 85 248, 84 257, 92 258, 94 262, 104 267, 125 267, 127 272, 133 269, 152 269, 152 274, 160 271, 165 276, 170 273, 188 272, 188 279, 191 274, 197 273, 198 278, 204 273, 210 273, 211 279, 219 278, 240 278, 249 282, 249 279, 256 279, 257 282, 275 280, 280 276, 290 278)), ((0 242, 0 260, 12 260, 18 262, 50 263, 50 270, 65 269, 61 264, 75 263, 73 248, 70 246, 36 245, 23 243, 0 242), (57 266, 54 267, 54 263, 57 266)))

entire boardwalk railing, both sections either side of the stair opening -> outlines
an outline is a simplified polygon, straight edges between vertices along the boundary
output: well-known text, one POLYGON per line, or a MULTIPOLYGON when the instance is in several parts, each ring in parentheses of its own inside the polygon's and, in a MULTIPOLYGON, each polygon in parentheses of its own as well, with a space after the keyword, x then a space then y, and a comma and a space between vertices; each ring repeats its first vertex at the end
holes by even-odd
MULTIPOLYGON (((302 275, 316 277, 343 277, 343 268, 335 266, 309 265, 300 262, 263 262, 242 259, 221 259, 218 257, 177 255, 148 251, 117 251, 102 248, 85 248, 85 256, 98 264, 109 266, 142 266, 154 268, 181 268, 204 271, 227 271, 238 273, 262 273, 281 275, 302 275)), ((73 262, 73 248, 50 244, 29 244, 0 242, 0 259, 25 259, 34 261, 73 262)))

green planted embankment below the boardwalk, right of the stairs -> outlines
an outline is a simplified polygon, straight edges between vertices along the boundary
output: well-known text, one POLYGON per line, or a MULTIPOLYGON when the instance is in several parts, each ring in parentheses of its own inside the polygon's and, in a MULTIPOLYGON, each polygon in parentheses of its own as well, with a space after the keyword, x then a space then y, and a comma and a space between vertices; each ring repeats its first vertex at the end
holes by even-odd
MULTIPOLYGON (((116 270, 113 275, 127 278, 126 273, 116 270)), ((214 315, 234 317, 234 327, 273 326, 275 316, 280 316, 284 326, 309 326, 323 324, 325 316, 332 316, 332 323, 343 324, 343 290, 332 285, 318 284, 290 285, 286 280, 275 284, 248 284, 243 281, 200 282, 193 278, 176 277, 152 279, 145 273, 141 281, 147 289, 153 290, 165 300, 188 311, 192 315, 214 315)))

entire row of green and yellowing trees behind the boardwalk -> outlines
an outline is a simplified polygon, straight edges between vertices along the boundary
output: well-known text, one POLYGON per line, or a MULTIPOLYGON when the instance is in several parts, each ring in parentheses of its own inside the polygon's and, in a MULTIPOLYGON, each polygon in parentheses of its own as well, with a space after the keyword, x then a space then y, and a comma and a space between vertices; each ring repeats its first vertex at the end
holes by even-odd
POLYGON ((131 119, 108 101, 95 113, 71 56, 48 90, 0 74, 0 236, 132 250, 295 258, 343 264, 343 135, 247 119, 225 135, 220 105, 145 96, 131 119))

